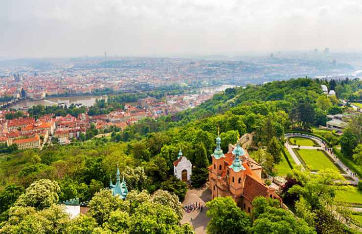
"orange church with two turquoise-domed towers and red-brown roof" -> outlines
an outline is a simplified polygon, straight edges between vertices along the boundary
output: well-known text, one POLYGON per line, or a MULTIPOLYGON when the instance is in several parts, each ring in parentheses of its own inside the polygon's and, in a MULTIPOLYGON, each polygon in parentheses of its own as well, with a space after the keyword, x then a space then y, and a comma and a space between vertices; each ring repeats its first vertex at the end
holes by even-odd
POLYGON ((229 145, 224 154, 220 148, 221 139, 216 138, 216 149, 212 154, 212 165, 209 166, 209 189, 212 199, 219 196, 231 196, 240 208, 250 213, 252 200, 256 196, 281 198, 275 190, 266 185, 261 178, 262 167, 249 157, 238 141, 229 145))

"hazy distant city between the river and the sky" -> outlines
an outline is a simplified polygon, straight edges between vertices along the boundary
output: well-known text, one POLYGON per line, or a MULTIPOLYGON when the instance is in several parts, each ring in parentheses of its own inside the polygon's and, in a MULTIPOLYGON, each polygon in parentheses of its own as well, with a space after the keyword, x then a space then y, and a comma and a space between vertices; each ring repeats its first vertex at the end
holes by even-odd
POLYGON ((264 83, 298 77, 356 77, 362 54, 305 53, 183 58, 17 59, 0 61, 0 102, 16 98, 116 94, 178 87, 264 83), (7 98, 4 98, 7 97, 7 98))

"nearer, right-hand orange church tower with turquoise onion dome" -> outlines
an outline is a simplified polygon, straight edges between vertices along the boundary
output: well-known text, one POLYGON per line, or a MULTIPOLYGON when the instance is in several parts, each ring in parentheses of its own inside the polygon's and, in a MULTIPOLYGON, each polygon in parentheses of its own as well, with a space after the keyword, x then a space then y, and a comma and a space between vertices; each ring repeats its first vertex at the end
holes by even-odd
POLYGON ((230 186, 230 192, 238 197, 243 194, 243 175, 246 170, 243 166, 245 152, 240 146, 238 141, 236 147, 232 151, 234 157, 232 164, 228 167, 226 175, 228 174, 228 181, 230 186))

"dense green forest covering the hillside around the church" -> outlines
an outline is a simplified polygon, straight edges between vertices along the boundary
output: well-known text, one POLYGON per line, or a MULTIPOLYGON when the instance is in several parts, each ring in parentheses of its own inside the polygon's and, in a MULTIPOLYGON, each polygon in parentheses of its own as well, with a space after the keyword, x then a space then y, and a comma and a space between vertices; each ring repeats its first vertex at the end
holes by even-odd
MULTIPOLYGON (((335 88, 338 98, 361 99, 360 80, 328 82, 298 78, 274 81, 245 88, 228 88, 196 108, 175 116, 142 119, 121 133, 113 133, 110 138, 79 140, 66 146, 55 144, 42 151, 4 153, 0 157, 0 219, 6 228, 0 229, 0 233, 17 233, 22 230, 22 225, 29 227, 31 224, 24 217, 46 219, 50 226, 57 226, 54 222, 61 222, 62 217, 56 203, 75 197, 80 201, 91 200, 91 215, 64 221, 68 230, 73 230, 69 233, 82 233, 74 230, 86 229, 84 226, 89 226, 90 231, 83 233, 107 233, 107 230, 109 233, 193 233, 189 226, 180 225, 180 215, 172 208, 177 206, 178 201, 171 205, 164 201, 157 202, 172 195, 182 201, 185 196, 186 184, 172 176, 172 162, 176 160, 179 150, 192 162, 192 185, 199 187, 207 180, 206 167, 211 162, 210 155, 216 146, 218 131, 221 133, 224 152, 229 143, 235 144, 245 133, 254 133, 249 151, 262 165, 264 174, 273 176, 276 173, 275 165, 280 161, 285 132, 292 129, 309 132, 312 126, 325 125, 328 114, 342 113, 347 108, 340 106, 338 98, 324 95, 321 84, 335 88), (103 190, 109 186, 110 176, 114 181, 117 165, 127 181, 128 190, 134 191, 123 202, 114 201, 112 195, 103 190), (50 195, 32 197, 39 186, 48 188, 46 191, 50 195), (159 195, 158 191, 164 194, 159 195), (42 199, 51 201, 42 207, 38 206, 42 199), (31 202, 34 200, 39 202, 34 204, 31 202), (104 202, 109 210, 97 207, 97 202, 104 202), (144 216, 144 213, 149 215, 144 216), (50 220, 52 214, 59 215, 59 220, 50 220), (114 222, 118 222, 121 228, 112 227, 114 222), (82 226, 82 223, 87 225, 82 226), (145 229, 154 223, 159 223, 157 230, 145 229)), ((89 112, 94 115, 104 114, 114 108, 122 108, 124 102, 136 101, 136 98, 139 96, 121 95, 111 97, 108 101, 99 100, 89 112)), ((59 115, 68 111, 74 116, 79 114, 71 113, 70 109, 59 110, 59 115)), ((51 111, 57 110, 34 107, 29 113, 39 116, 51 111)), ((361 126, 361 118, 347 129, 348 137, 333 134, 324 137, 332 145, 340 143, 341 154, 361 163, 358 156, 362 154, 361 129, 358 126, 361 126)), ((243 229, 235 229, 240 230, 238 233, 270 233, 272 227, 280 229, 277 233, 347 232, 341 222, 336 221, 326 209, 327 206, 337 204, 332 198, 335 191, 342 188, 333 181, 339 179, 343 178, 330 171, 313 176, 294 168, 283 197, 291 201, 298 218, 276 207, 272 200, 260 199, 254 205, 260 209, 255 209, 251 217, 246 217, 239 209, 241 213, 237 211, 237 217, 243 220, 232 225, 243 226, 243 229), (320 182, 323 178, 332 179, 332 182, 320 182), (334 203, 326 204, 327 200, 334 203), (279 220, 275 219, 277 215, 280 216, 279 220), (266 219, 269 220, 269 226, 265 223, 266 219), (284 232, 282 226, 285 222, 290 223, 290 232, 284 232), (263 230, 263 225, 271 229, 263 230)), ((218 216, 235 217, 234 213, 217 214, 217 207, 221 205, 229 206, 230 211, 235 210, 227 199, 215 199, 209 203, 209 215, 212 217, 209 233, 218 233, 212 232, 220 228, 218 225, 221 221, 215 220, 218 216)), ((57 232, 44 233, 61 233, 59 226, 53 230, 57 232)))

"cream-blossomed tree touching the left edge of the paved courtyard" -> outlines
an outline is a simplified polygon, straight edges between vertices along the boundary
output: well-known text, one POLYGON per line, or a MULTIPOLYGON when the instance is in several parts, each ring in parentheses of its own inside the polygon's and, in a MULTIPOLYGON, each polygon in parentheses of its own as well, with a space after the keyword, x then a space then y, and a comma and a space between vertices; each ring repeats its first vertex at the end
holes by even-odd
POLYGON ((170 207, 180 218, 183 215, 182 204, 177 195, 158 190, 152 195, 152 201, 170 207))

